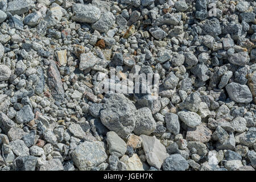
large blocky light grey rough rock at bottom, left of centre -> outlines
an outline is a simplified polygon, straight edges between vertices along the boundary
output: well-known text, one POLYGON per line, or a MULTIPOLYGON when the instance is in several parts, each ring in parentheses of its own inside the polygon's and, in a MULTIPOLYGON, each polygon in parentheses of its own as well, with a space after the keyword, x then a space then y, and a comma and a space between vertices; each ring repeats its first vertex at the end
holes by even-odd
POLYGON ((108 159, 104 143, 100 141, 81 143, 72 152, 72 160, 80 171, 90 171, 108 159))

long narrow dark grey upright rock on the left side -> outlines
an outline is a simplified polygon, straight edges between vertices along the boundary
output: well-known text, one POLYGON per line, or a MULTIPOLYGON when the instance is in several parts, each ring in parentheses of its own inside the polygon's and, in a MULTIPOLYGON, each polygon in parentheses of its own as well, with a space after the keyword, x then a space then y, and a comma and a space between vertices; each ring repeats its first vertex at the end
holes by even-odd
POLYGON ((51 61, 48 67, 47 77, 47 84, 49 89, 52 91, 53 98, 57 101, 64 100, 63 83, 61 81, 60 72, 54 61, 51 61))

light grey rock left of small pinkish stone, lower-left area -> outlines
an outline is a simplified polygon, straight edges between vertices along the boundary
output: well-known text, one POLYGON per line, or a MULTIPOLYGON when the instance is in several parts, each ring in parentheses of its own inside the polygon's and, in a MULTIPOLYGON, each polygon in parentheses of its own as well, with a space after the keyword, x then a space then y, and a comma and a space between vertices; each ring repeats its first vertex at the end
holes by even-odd
POLYGON ((23 140, 15 140, 9 143, 11 150, 13 150, 16 156, 30 155, 29 149, 23 140))

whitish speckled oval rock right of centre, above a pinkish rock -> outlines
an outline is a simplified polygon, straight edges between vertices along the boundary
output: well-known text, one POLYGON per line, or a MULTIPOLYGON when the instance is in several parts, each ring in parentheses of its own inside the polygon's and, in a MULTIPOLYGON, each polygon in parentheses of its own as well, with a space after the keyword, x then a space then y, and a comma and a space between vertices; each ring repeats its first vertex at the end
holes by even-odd
POLYGON ((181 121, 183 121, 189 127, 197 127, 201 124, 201 117, 191 111, 184 110, 177 113, 181 121))

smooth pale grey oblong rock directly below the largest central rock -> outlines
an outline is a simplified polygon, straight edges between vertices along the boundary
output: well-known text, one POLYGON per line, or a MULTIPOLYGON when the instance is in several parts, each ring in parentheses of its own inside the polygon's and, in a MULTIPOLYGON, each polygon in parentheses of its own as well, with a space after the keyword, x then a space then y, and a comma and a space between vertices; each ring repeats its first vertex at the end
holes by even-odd
POLYGON ((125 155, 127 150, 125 141, 114 133, 114 131, 109 131, 106 136, 106 141, 109 145, 109 153, 118 157, 125 155))

